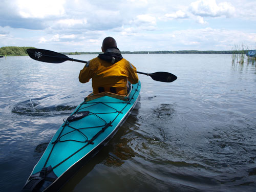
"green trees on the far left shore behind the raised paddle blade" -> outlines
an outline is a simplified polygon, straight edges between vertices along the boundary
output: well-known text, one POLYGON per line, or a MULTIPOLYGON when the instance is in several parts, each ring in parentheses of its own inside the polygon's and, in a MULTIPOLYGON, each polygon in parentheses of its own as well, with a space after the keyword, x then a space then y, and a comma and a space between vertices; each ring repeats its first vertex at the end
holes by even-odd
POLYGON ((28 55, 27 49, 34 47, 2 47, 0 48, 0 55, 16 56, 16 55, 28 55))

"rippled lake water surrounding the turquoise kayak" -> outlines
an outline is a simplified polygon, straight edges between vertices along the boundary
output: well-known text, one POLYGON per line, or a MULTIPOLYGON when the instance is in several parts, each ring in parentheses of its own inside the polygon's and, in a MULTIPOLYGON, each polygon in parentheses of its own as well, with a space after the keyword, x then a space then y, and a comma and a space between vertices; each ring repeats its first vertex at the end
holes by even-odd
MULTIPOLYGON (((96 55, 74 55, 89 60, 96 55)), ((140 101, 113 139, 61 191, 255 191, 256 65, 229 54, 127 54, 140 101)), ((0 58, 0 191, 19 191, 83 98, 82 63, 0 58)))

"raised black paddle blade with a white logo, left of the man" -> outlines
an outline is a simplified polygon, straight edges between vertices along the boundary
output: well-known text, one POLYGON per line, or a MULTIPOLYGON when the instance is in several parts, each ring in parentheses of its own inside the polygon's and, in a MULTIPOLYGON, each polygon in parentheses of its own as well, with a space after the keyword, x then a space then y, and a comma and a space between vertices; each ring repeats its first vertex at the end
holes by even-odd
POLYGON ((32 59, 42 62, 61 63, 70 60, 66 55, 46 49, 27 49, 27 52, 32 59))

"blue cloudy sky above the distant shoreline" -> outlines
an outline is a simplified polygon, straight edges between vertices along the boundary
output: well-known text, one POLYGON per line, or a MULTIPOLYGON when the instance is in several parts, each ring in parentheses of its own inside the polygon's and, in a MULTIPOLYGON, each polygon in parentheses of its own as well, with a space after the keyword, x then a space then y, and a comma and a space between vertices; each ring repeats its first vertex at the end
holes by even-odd
POLYGON ((99 52, 256 49, 255 0, 0 0, 0 47, 99 52))

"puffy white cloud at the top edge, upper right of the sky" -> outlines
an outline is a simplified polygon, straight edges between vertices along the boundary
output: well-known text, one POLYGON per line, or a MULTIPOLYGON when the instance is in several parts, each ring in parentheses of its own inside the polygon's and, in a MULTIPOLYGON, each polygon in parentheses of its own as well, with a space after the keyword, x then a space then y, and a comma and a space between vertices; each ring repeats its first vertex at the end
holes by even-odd
POLYGON ((210 17, 229 17, 235 12, 235 8, 231 4, 227 2, 217 4, 216 0, 199 0, 191 3, 189 9, 194 15, 210 17))

